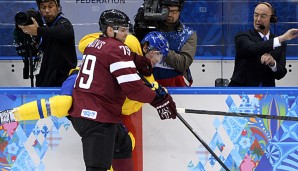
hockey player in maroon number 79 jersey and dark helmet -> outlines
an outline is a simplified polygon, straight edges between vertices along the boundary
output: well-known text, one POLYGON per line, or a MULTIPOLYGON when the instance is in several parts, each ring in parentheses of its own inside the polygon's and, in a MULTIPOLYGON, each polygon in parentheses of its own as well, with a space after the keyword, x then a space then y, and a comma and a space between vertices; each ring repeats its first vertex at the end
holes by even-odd
MULTIPOLYGON (((127 15, 106 10, 99 18, 99 26, 103 35, 84 51, 69 110, 73 127, 82 137, 87 171, 107 171, 113 158, 128 157, 114 153, 119 145, 115 137, 121 134, 117 127, 121 126, 126 97, 150 103, 161 119, 175 119, 177 114, 172 97, 161 86, 153 91, 139 77, 132 52, 124 44, 130 26, 127 15)), ((125 160, 114 164, 125 167, 125 160)))

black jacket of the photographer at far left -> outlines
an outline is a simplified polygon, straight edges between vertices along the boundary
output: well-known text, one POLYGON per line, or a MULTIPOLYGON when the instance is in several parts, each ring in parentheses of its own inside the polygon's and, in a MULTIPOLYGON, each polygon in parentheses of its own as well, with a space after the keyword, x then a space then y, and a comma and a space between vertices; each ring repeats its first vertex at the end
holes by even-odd
POLYGON ((70 69, 77 65, 74 29, 70 21, 58 15, 47 27, 38 27, 41 50, 44 52, 37 87, 60 87, 70 69))

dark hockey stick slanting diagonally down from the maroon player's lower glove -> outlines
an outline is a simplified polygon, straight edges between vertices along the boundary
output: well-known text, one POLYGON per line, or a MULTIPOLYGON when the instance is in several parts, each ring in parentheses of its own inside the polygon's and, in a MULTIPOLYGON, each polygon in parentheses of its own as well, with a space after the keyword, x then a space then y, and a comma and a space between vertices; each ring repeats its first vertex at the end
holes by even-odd
MULTIPOLYGON (((148 87, 152 87, 152 84, 140 73, 138 75, 145 82, 145 85, 148 87)), ((217 160, 217 162, 226 170, 230 171, 228 167, 220 160, 220 158, 212 151, 212 149, 205 143, 205 141, 194 131, 194 129, 188 124, 188 122, 177 112, 177 117, 179 120, 190 130, 190 132, 203 144, 203 146, 209 151, 209 153, 217 160)))

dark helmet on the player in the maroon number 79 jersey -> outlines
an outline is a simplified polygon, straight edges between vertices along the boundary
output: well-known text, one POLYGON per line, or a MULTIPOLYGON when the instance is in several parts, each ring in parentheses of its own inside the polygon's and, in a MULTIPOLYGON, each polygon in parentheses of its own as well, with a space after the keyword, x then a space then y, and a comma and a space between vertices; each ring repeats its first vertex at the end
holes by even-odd
POLYGON ((108 26, 113 27, 114 30, 118 30, 119 26, 131 27, 129 17, 124 12, 117 9, 110 9, 102 12, 98 24, 103 33, 106 32, 108 26))

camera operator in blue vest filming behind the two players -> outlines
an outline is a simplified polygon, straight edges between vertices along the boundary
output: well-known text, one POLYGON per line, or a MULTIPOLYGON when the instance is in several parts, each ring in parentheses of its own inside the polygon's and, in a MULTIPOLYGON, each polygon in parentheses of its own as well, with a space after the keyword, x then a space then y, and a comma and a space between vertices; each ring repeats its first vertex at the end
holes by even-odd
MULTIPOLYGON (((197 34, 180 21, 183 5, 184 0, 145 0, 143 9, 141 7, 135 17, 135 34, 138 38, 144 35, 144 31, 156 29, 161 31, 169 41, 170 51, 168 56, 165 57, 163 63, 157 63, 153 69, 155 80, 164 87, 191 86, 193 82, 189 67, 196 53, 197 34), (150 8, 146 6, 156 3, 158 3, 156 7, 160 9, 151 11, 153 13, 157 11, 157 13, 150 14, 150 12, 147 12, 147 9, 150 8), (168 9, 168 14, 163 19, 165 8, 168 9), (146 16, 153 16, 155 20, 162 19, 162 21, 146 22, 146 16), (142 17, 143 20, 141 20, 142 17), (149 23, 155 23, 155 28, 147 25, 149 23)), ((152 6, 152 8, 155 7, 152 6)), ((153 17, 150 20, 154 20, 153 17)))

